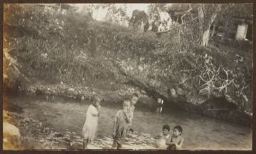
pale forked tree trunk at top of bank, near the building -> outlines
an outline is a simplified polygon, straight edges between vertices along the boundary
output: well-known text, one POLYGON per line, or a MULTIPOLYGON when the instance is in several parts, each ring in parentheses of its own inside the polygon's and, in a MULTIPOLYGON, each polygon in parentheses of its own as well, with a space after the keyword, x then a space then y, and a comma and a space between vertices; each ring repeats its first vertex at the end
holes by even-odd
POLYGON ((198 20, 199 20, 199 46, 209 46, 209 28, 217 17, 217 14, 221 11, 221 5, 218 4, 213 13, 209 13, 209 10, 205 9, 205 4, 200 4, 198 7, 198 20), (207 12, 207 13, 206 13, 207 12), (207 17, 206 15, 209 15, 207 17))

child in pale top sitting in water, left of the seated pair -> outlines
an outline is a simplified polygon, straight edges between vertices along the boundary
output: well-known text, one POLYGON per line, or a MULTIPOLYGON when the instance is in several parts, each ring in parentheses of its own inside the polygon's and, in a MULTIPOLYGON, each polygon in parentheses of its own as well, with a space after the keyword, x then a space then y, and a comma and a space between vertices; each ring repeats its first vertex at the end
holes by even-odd
POLYGON ((159 139, 156 143, 156 147, 159 149, 166 149, 168 145, 166 145, 166 141, 170 137, 170 126, 165 124, 162 128, 162 133, 159 136, 159 139))

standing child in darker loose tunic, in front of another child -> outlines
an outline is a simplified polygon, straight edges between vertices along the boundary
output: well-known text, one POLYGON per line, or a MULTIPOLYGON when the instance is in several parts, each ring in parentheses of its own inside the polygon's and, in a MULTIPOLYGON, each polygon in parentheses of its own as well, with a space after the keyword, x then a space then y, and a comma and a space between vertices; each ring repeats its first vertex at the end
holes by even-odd
POLYGON ((113 127, 113 145, 111 149, 121 149, 124 137, 126 137, 132 122, 132 114, 129 112, 131 107, 131 100, 125 99, 123 102, 123 110, 118 110, 114 118, 113 127))

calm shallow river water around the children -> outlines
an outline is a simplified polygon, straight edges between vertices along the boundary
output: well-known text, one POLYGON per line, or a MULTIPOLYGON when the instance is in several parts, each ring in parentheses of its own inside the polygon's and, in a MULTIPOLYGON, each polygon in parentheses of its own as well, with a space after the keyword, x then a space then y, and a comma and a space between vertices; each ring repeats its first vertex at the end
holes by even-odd
MULTIPOLYGON (((23 108, 21 116, 39 120, 53 130, 61 133, 72 132, 81 137, 82 126, 86 117, 88 101, 66 100, 64 98, 46 98, 45 96, 9 96, 8 102, 23 108)), ((98 137, 108 138, 111 146, 113 120, 122 104, 102 102, 102 112, 98 121, 98 137)), ((153 149, 145 144, 156 140, 162 126, 169 124, 182 126, 184 145, 182 149, 251 149, 252 130, 246 126, 232 124, 196 114, 163 108, 162 113, 156 108, 136 106, 132 129, 136 134, 134 141, 143 140, 144 145, 136 143, 136 149, 153 149), (145 135, 146 134, 146 135, 145 135), (146 136, 146 137, 145 137, 146 136)), ((107 139, 103 139, 107 140, 107 139)), ((125 143, 124 143, 125 145, 125 143)), ((130 144, 130 146, 133 146, 130 144)), ((90 147, 90 146, 89 146, 90 147)), ((124 146, 125 147, 125 146, 124 146)))

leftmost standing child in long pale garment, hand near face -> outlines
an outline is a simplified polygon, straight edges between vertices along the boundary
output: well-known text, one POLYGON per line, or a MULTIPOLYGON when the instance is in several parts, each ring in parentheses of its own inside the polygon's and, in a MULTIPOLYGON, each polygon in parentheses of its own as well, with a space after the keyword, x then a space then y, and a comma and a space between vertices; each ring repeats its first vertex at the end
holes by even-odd
POLYGON ((82 128, 83 148, 87 149, 87 144, 90 143, 96 134, 98 126, 98 117, 100 116, 100 96, 93 95, 91 98, 91 103, 86 112, 86 120, 84 122, 84 127, 82 128))

